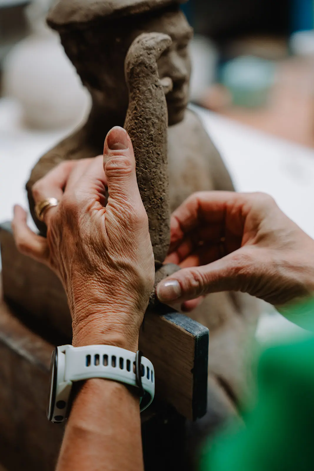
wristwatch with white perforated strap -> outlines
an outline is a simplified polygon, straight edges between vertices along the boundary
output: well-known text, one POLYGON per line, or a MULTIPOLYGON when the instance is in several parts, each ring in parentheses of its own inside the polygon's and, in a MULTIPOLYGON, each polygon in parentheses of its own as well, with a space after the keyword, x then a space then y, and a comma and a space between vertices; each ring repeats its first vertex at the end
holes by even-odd
POLYGON ((148 358, 113 345, 73 347, 62 345, 52 352, 47 417, 64 422, 70 413, 72 383, 105 378, 137 388, 141 412, 153 401, 155 372, 148 358))

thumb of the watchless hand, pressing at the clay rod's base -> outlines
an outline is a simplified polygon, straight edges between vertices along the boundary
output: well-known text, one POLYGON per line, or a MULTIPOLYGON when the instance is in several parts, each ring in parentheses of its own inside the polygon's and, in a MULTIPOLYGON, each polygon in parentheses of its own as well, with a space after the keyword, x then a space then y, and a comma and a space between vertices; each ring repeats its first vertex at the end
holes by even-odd
POLYGON ((184 302, 213 292, 250 292, 250 278, 256 275, 255 261, 239 249, 202 267, 184 268, 162 280, 156 287, 164 304, 184 302))

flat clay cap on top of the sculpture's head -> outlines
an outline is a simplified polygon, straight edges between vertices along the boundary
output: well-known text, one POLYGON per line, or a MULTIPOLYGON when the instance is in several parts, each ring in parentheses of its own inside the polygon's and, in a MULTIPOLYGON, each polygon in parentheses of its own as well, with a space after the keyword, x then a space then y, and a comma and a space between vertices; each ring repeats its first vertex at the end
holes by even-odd
POLYGON ((65 24, 86 23, 96 18, 137 15, 187 0, 59 0, 48 13, 48 24, 58 29, 65 24))

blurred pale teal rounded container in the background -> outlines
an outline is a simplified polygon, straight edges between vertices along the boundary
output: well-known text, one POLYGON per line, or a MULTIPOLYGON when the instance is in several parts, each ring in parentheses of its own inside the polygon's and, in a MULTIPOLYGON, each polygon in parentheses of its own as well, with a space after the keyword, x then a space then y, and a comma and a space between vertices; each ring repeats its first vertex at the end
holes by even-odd
POLYGON ((230 90, 233 105, 258 108, 267 104, 274 76, 273 62, 254 56, 242 56, 223 66, 221 81, 230 90))

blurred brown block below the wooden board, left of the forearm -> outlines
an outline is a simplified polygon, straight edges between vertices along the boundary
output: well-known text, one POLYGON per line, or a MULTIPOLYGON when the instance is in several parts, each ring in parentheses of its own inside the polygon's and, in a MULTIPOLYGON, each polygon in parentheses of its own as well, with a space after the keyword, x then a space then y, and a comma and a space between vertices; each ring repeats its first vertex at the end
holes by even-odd
POLYGON ((52 350, 13 315, 1 296, 0 461, 10 471, 55 469, 64 427, 46 416, 52 350))

